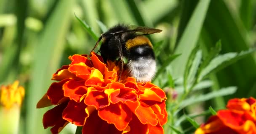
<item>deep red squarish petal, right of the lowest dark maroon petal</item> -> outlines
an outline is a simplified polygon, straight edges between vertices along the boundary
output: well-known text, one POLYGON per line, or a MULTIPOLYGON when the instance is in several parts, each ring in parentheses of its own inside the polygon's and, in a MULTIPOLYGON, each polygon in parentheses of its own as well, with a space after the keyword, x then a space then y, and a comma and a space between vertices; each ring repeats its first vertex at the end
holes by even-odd
POLYGON ((69 101, 67 107, 63 111, 63 119, 75 124, 76 126, 83 126, 85 123, 85 118, 88 114, 85 113, 85 108, 87 106, 83 101, 77 103, 73 100, 69 101))

